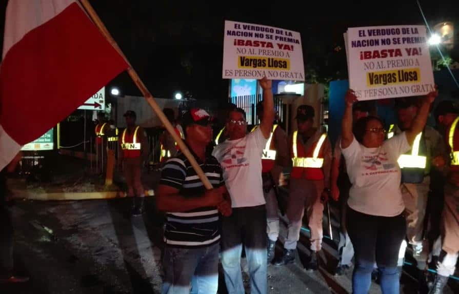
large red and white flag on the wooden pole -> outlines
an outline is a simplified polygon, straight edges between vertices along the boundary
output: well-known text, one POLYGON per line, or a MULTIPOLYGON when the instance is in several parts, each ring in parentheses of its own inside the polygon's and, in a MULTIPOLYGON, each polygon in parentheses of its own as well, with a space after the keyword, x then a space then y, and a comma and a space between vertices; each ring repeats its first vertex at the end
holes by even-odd
POLYGON ((0 170, 127 67, 78 2, 10 0, 0 65, 0 170))

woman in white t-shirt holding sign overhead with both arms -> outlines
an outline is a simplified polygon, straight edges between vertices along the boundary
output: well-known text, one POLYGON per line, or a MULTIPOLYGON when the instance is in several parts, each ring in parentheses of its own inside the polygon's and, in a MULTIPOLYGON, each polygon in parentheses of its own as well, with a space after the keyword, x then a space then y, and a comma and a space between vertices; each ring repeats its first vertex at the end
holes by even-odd
POLYGON ((436 96, 436 91, 426 96, 411 129, 384 141, 385 128, 375 116, 358 120, 352 132, 352 104, 357 98, 352 90, 346 93, 341 148, 352 183, 347 228, 355 250, 354 294, 368 293, 375 261, 383 293, 400 291, 397 259, 406 221, 397 159, 423 130, 436 96))

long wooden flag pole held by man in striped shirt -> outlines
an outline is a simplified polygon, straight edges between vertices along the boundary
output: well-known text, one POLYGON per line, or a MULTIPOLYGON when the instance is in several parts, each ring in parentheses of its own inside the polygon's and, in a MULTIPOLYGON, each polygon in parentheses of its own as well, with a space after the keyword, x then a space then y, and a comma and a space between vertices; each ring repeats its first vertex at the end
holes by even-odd
POLYGON ((107 41, 115 48, 115 50, 119 53, 119 55, 123 56, 124 60, 129 64, 129 68, 127 69, 129 76, 131 77, 132 81, 135 83, 137 88, 142 92, 142 94, 145 97, 145 100, 147 100, 148 104, 150 107, 153 109, 153 111, 156 113, 156 115, 159 117, 159 120, 164 124, 166 127, 166 130, 172 135, 172 138, 174 138, 175 142, 177 142, 178 147, 182 152, 185 154, 187 159, 190 161, 191 166, 194 168, 196 171, 199 179, 203 182, 204 186, 206 189, 212 189, 212 184, 209 182, 209 179, 207 179, 206 175, 204 174, 204 171, 202 168, 197 164, 196 159, 194 156, 191 154, 190 150, 188 149, 187 145, 182 141, 182 138, 180 138, 179 135, 174 130, 174 127, 172 124, 169 122, 167 119, 166 115, 164 115, 163 110, 159 105, 156 103, 156 101, 153 99, 153 96, 151 95, 150 91, 148 91, 147 87, 145 87, 144 83, 140 79, 140 77, 137 75, 137 72, 132 68, 130 62, 124 55, 123 51, 119 48, 118 44, 115 42, 113 37, 111 36, 110 32, 107 30, 105 27, 104 23, 101 21, 101 18, 97 15, 97 13, 94 11, 92 8, 91 4, 89 4, 88 0, 79 0, 79 2, 83 5, 85 8, 86 12, 89 14, 91 17, 92 21, 94 24, 97 26, 97 28, 102 32, 102 34, 105 36, 107 41))

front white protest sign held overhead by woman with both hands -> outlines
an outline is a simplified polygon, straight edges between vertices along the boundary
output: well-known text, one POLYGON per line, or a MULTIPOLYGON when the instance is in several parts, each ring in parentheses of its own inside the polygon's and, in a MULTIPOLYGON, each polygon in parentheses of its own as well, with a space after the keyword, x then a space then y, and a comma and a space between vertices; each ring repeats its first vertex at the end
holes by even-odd
POLYGON ((349 87, 359 100, 426 95, 434 90, 424 26, 349 28, 349 87))

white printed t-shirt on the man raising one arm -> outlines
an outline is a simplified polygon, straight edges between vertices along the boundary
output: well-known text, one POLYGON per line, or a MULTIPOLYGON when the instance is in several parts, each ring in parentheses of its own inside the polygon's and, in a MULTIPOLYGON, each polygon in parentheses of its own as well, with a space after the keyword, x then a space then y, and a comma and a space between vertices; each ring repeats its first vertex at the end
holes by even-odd
POLYGON ((222 165, 223 179, 232 207, 265 204, 262 182, 262 153, 268 140, 260 128, 238 140, 226 140, 213 149, 212 155, 222 165))

